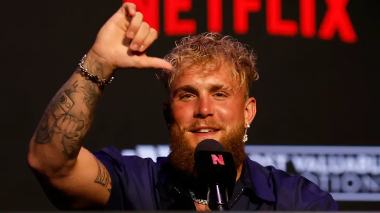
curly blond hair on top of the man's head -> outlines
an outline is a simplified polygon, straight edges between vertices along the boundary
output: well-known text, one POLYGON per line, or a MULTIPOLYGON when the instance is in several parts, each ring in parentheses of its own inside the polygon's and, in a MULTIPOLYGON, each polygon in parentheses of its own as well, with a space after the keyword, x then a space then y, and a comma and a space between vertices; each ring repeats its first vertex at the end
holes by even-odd
POLYGON ((207 32, 184 37, 176 42, 176 47, 164 59, 173 66, 172 71, 162 70, 158 76, 166 89, 169 89, 174 78, 185 70, 195 67, 216 70, 223 62, 231 71, 231 78, 239 80, 239 88, 245 84, 249 90, 252 81, 259 77, 253 51, 249 51, 233 37, 219 33, 207 32))

